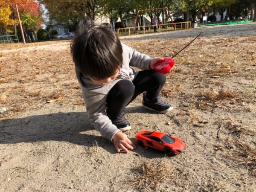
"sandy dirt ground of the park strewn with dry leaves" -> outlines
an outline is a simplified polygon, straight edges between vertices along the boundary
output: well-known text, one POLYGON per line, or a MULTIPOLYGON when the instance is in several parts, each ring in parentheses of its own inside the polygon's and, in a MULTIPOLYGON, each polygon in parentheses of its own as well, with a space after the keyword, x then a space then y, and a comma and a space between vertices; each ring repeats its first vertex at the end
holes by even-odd
POLYGON ((172 56, 168 114, 125 110, 140 130, 179 137, 166 156, 116 153, 89 123, 70 41, 0 44, 1 192, 256 192, 256 23, 120 37, 151 57, 172 56))

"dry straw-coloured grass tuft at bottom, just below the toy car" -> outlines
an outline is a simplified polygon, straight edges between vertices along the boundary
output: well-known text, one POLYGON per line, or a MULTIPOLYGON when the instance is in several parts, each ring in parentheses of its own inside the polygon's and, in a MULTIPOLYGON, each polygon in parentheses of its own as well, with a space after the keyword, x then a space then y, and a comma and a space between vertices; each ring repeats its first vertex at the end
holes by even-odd
POLYGON ((155 159, 145 161, 134 167, 136 178, 129 181, 131 183, 129 186, 136 186, 140 190, 148 188, 157 190, 159 182, 166 178, 175 177, 173 171, 174 168, 165 160, 160 162, 156 162, 155 159))

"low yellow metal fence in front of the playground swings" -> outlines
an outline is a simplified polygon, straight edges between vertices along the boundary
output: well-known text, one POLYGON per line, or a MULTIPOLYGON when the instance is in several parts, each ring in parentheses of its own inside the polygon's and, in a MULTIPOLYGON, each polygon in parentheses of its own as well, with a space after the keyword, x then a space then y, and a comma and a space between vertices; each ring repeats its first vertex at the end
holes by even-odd
MULTIPOLYGON (((166 32, 166 31, 176 31, 176 30, 184 30, 190 29, 191 22, 180 22, 180 23, 166 23, 157 25, 157 32, 166 32)), ((154 32, 154 25, 149 26, 138 26, 138 27, 127 27, 127 28, 119 28, 116 29, 116 33, 118 36, 121 35, 140 35, 154 32)))

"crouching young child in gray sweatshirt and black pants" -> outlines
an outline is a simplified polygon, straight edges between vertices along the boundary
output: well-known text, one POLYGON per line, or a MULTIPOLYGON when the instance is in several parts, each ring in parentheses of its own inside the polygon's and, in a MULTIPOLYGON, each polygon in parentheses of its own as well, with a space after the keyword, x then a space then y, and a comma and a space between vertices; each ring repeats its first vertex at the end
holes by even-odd
POLYGON ((122 44, 105 24, 86 23, 70 47, 91 124, 117 152, 128 153, 135 145, 122 133, 131 129, 124 116, 126 105, 145 92, 144 108, 159 113, 172 110, 159 96, 166 76, 152 70, 163 58, 151 58, 122 44))

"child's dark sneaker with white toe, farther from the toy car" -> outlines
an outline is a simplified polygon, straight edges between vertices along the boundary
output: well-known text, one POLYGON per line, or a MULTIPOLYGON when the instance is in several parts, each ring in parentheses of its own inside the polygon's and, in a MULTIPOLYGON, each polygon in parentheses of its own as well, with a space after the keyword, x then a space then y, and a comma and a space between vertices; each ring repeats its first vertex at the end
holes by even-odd
POLYGON ((160 96, 157 96, 157 98, 153 100, 148 100, 146 98, 146 94, 143 94, 143 102, 142 105, 144 108, 156 111, 158 113, 167 113, 173 109, 172 105, 163 102, 162 99, 160 99, 160 96))

